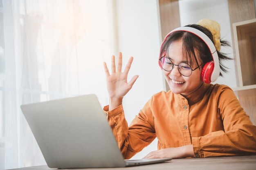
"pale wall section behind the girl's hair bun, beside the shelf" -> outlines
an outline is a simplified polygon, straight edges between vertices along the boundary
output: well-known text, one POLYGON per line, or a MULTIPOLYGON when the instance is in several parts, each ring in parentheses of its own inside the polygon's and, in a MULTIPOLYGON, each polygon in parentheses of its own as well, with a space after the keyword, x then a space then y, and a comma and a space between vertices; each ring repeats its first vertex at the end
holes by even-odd
MULTIPOLYGON (((227 0, 180 0, 179 8, 181 26, 185 26, 187 24, 195 24, 204 18, 215 20, 220 24, 221 38, 224 37, 223 39, 228 40, 232 45, 227 0)), ((230 53, 229 57, 233 58, 232 48, 222 47, 221 52, 230 53)), ((236 71, 234 60, 225 61, 225 65, 230 68, 228 70, 229 72, 223 74, 224 77, 219 77, 214 83, 225 84, 229 87, 236 87, 236 71)))

